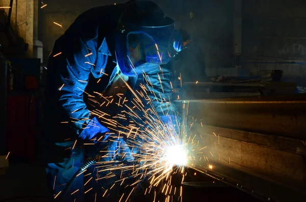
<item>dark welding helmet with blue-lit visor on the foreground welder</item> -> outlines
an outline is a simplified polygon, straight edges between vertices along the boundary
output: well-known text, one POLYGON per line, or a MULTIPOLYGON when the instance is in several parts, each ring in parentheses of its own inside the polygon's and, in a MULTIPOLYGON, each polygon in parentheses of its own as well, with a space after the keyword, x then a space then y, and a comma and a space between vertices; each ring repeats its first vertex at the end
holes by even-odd
POLYGON ((174 53, 174 21, 149 1, 126 4, 116 31, 115 54, 121 72, 135 76, 167 64, 174 53))

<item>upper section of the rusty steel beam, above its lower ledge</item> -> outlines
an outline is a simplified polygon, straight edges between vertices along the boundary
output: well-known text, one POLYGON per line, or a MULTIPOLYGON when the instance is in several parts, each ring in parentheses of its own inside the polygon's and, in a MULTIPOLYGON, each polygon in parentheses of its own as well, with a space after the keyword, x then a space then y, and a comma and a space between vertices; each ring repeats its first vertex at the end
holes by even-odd
MULTIPOLYGON (((285 100, 245 100, 227 102, 186 101, 188 115, 202 119, 202 124, 257 132, 263 134, 306 139, 306 103, 285 100)), ((293 100, 294 101, 294 100, 293 100)))

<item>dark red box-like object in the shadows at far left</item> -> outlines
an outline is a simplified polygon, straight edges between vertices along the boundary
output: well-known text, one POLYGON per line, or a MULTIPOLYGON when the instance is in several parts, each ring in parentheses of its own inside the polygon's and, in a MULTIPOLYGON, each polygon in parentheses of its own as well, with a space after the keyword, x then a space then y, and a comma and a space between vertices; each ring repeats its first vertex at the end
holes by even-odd
POLYGON ((35 97, 8 96, 8 151, 11 158, 35 159, 35 97))

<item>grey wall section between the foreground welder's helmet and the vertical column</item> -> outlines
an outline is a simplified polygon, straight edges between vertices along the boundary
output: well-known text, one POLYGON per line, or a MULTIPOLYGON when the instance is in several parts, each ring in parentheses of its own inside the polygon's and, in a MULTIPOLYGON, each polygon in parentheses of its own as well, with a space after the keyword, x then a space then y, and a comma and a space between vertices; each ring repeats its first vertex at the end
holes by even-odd
POLYGON ((233 0, 155 2, 174 19, 176 28, 188 31, 201 46, 208 75, 236 74, 229 68, 233 67, 233 0), (194 13, 193 20, 190 12, 194 13))

